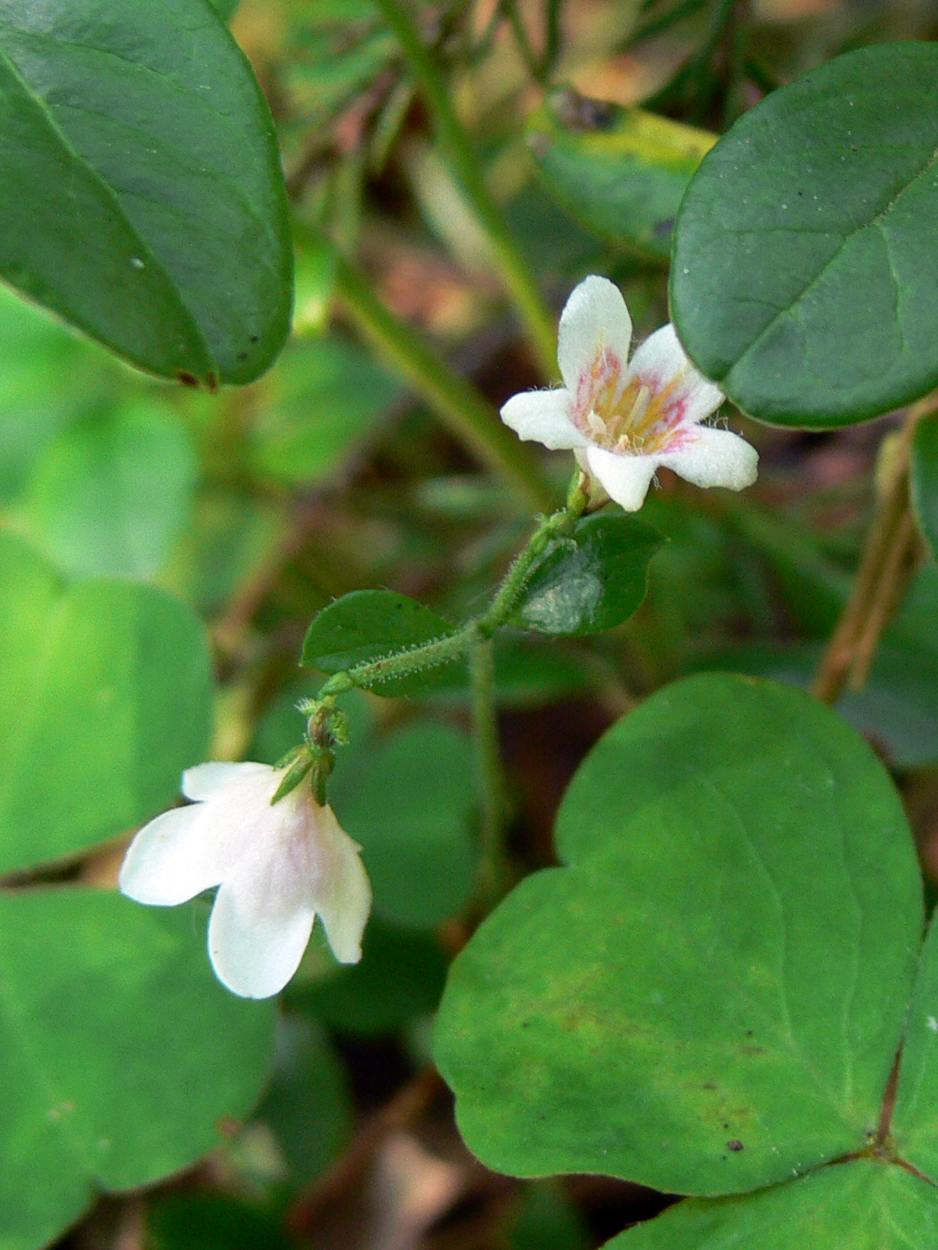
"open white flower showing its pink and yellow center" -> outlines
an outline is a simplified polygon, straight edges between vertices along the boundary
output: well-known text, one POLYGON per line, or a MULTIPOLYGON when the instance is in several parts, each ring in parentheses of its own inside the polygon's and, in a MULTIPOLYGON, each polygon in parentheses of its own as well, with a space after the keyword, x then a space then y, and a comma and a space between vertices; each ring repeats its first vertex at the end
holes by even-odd
POLYGON ((673 325, 629 361, 632 318, 619 289, 587 278, 560 315, 557 390, 514 395, 502 420, 523 439, 572 449, 610 499, 634 512, 659 465, 697 486, 742 490, 755 481, 757 451, 700 421, 723 391, 694 369, 673 325))

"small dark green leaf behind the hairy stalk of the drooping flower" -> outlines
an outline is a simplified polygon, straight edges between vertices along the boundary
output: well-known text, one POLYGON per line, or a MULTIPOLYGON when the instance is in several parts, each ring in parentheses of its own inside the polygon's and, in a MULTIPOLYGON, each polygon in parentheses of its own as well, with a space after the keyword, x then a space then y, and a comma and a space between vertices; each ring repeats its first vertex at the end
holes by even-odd
MULTIPOLYGON (((406 595, 393 590, 353 590, 315 618, 303 644, 300 664, 321 672, 344 672, 356 664, 370 664, 455 632, 454 625, 406 595)), ((458 671, 464 672, 465 662, 458 664, 458 671)), ((451 669, 449 664, 405 678, 389 678, 378 682, 374 692, 396 699, 450 685, 451 669)))

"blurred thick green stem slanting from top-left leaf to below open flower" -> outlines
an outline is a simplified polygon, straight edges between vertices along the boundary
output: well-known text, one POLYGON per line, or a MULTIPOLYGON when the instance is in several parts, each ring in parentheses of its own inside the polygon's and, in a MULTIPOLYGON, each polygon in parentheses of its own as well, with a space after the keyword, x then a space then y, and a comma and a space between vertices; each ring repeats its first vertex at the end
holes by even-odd
POLYGON ((335 290, 361 334, 396 366, 460 442, 534 508, 549 506, 550 488, 495 409, 394 316, 343 256, 336 258, 335 290))

